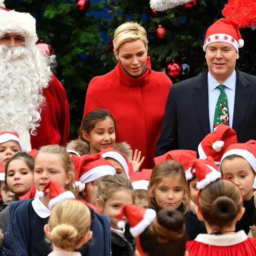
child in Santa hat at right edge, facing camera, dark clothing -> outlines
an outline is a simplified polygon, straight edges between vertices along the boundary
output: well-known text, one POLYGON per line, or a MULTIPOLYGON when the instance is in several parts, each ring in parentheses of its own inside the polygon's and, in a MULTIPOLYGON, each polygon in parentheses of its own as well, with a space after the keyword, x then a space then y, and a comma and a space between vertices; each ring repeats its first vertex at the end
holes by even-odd
POLYGON ((253 183, 256 177, 256 141, 236 143, 227 148, 221 159, 223 177, 233 180, 241 189, 244 198, 245 214, 237 222, 236 231, 249 232, 255 212, 253 183))

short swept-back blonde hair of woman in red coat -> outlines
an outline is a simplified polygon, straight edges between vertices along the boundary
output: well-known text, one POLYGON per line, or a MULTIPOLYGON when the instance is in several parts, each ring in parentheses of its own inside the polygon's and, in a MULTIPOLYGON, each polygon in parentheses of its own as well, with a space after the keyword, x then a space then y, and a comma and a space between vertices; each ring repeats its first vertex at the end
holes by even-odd
POLYGON ((114 34, 114 49, 118 52, 119 46, 124 42, 142 40, 145 46, 148 43, 147 32, 136 22, 126 22, 120 25, 114 34))

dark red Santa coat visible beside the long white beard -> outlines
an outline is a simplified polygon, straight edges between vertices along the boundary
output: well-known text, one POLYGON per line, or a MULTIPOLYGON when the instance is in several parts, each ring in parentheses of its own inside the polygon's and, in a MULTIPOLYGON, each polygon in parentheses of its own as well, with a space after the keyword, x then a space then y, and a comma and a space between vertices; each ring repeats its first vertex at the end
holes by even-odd
POLYGON ((45 102, 40 105, 41 121, 37 128, 37 135, 30 135, 32 149, 41 146, 60 144, 62 146, 68 140, 69 134, 69 108, 64 87, 55 75, 49 87, 43 90, 45 102))

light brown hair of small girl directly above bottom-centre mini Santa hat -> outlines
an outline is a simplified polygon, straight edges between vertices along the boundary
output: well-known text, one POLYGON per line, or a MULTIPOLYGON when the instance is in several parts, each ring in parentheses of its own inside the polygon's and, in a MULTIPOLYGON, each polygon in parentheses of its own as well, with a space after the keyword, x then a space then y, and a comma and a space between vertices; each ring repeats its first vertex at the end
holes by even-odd
POLYGON ((132 187, 132 182, 127 177, 120 175, 108 175, 104 177, 99 185, 97 191, 97 198, 99 203, 103 206, 109 200, 109 198, 116 192, 121 190, 127 190, 132 195, 132 201, 135 202, 135 194, 132 187))

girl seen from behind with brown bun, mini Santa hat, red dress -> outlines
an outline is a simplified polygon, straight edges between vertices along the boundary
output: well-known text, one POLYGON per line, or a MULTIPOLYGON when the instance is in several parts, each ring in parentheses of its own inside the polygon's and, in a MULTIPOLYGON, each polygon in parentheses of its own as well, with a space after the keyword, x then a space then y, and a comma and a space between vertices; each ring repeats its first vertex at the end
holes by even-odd
MULTIPOLYGON (((194 163, 195 167, 199 164, 194 163)), ((245 212, 241 190, 209 166, 195 169, 200 189, 196 214, 205 223, 207 234, 188 241, 189 255, 255 255, 256 239, 247 237, 244 230, 235 231, 236 222, 245 212)))

